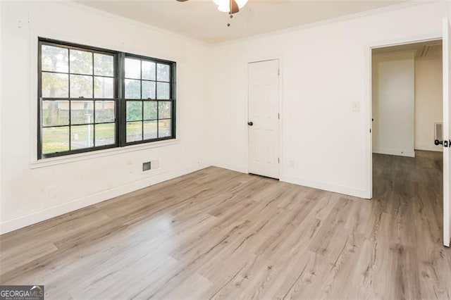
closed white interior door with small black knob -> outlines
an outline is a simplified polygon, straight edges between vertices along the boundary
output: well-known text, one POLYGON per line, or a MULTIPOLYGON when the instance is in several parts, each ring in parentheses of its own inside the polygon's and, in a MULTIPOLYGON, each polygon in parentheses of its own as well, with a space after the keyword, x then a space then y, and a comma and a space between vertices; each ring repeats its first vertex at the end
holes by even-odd
POLYGON ((279 177, 279 61, 249 63, 249 173, 279 177))

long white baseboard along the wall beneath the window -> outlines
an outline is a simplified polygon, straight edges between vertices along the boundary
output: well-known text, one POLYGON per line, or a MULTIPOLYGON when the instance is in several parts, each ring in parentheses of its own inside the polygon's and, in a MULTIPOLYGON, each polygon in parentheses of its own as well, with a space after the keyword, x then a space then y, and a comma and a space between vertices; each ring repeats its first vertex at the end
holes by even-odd
POLYGON ((75 200, 67 202, 65 204, 60 204, 58 206, 52 206, 52 207, 46 208, 42 211, 37 211, 35 213, 21 215, 18 218, 14 218, 11 220, 1 222, 0 223, 0 235, 3 235, 7 232, 11 232, 14 230, 18 230, 23 227, 27 227, 27 226, 36 224, 39 222, 42 222, 44 220, 49 220, 51 218, 55 218, 58 215, 70 213, 71 211, 76 211, 80 208, 84 208, 86 206, 97 204, 99 202, 106 201, 111 198, 121 196, 123 194, 134 192, 138 189, 143 189, 144 187, 156 185, 160 182, 171 180, 175 177, 180 177, 180 176, 195 172, 197 170, 202 170, 204 168, 208 168, 209 166, 210 166, 210 164, 205 163, 205 164, 194 165, 190 168, 186 168, 183 170, 159 173, 154 176, 146 177, 142 180, 130 182, 130 183, 122 185, 120 187, 114 187, 113 189, 107 189, 107 190, 98 192, 96 194, 91 194, 89 196, 85 196, 80 199, 75 199, 75 200))

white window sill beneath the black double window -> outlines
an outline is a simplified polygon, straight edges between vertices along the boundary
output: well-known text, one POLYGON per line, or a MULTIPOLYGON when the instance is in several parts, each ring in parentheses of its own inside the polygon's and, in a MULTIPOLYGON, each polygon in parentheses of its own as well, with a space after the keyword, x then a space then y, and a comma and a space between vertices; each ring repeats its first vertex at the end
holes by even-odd
POLYGON ((121 148, 112 148, 112 149, 105 149, 105 150, 99 150, 99 151, 92 151, 92 152, 86 152, 86 153, 80 153, 80 154, 72 154, 68 156, 59 156, 59 157, 53 157, 53 158, 44 158, 39 159, 37 161, 30 162, 30 169, 37 169, 37 168, 46 168, 50 167, 51 165, 62 165, 64 163, 74 163, 76 161, 86 161, 88 159, 94 159, 104 156, 113 156, 118 154, 124 154, 128 152, 134 152, 134 151, 142 151, 152 148, 159 148, 162 146, 170 146, 173 144, 179 144, 180 139, 168 139, 166 141, 160 141, 160 142, 152 142, 149 144, 137 144, 132 146, 125 146, 121 148))

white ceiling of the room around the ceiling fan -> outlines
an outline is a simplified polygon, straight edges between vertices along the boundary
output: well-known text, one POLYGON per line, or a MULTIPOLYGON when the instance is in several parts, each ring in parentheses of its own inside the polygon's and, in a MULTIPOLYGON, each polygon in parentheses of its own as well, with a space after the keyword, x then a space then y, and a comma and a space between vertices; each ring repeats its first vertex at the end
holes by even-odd
POLYGON ((369 11, 405 0, 249 0, 233 19, 212 0, 73 0, 209 44, 369 11), (230 23, 230 27, 227 27, 230 23))

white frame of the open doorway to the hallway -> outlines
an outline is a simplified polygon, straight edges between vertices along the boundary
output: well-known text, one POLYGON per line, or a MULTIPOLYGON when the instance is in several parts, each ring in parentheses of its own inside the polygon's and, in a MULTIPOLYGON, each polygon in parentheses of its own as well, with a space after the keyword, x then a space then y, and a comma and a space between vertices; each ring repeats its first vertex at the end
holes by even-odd
POLYGON ((436 40, 443 40, 443 36, 426 36, 426 37, 412 37, 412 38, 399 38, 399 39, 391 39, 381 42, 376 42, 374 44, 366 45, 366 105, 365 105, 365 117, 366 117, 366 125, 365 125, 365 148, 366 148, 366 199, 373 198, 373 124, 371 121, 373 115, 373 49, 384 48, 388 46, 399 46, 404 44, 414 44, 420 42, 432 42, 436 40))

